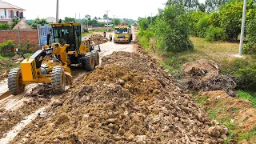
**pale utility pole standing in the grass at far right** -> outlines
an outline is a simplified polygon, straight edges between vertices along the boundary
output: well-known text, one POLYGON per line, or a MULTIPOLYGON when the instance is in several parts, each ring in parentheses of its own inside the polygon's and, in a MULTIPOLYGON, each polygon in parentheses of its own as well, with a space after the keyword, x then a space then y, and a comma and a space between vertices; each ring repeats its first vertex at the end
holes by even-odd
POLYGON ((241 26, 241 35, 240 35, 240 45, 239 45, 238 57, 242 57, 242 43, 243 43, 243 34, 244 34, 244 31, 245 31, 245 22, 246 22, 246 0, 243 0, 242 26, 241 26))

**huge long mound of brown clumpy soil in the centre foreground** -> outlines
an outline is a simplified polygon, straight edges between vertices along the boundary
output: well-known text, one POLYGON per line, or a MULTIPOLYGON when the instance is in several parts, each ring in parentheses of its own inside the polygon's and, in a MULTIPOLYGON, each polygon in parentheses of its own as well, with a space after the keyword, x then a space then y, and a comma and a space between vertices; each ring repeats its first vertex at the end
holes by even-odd
POLYGON ((192 95, 146 55, 102 58, 102 66, 62 98, 13 142, 223 143, 192 95))

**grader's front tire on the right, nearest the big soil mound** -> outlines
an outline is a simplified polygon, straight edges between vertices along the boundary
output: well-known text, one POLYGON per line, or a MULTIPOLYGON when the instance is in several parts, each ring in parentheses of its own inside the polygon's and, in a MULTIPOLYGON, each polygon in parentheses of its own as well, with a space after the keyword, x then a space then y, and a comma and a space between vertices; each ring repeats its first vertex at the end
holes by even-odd
POLYGON ((54 94, 62 94, 65 92, 66 76, 62 66, 54 66, 51 73, 51 85, 54 94))

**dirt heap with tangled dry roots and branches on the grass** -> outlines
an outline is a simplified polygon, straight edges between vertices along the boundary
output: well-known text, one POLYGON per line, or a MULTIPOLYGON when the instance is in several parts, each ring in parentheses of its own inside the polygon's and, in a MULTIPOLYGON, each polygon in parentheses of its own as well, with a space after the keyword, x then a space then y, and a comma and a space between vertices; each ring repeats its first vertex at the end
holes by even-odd
POLYGON ((236 83, 229 75, 219 74, 218 65, 210 60, 200 59, 182 66, 182 78, 177 85, 184 90, 211 91, 224 90, 235 95, 236 83))

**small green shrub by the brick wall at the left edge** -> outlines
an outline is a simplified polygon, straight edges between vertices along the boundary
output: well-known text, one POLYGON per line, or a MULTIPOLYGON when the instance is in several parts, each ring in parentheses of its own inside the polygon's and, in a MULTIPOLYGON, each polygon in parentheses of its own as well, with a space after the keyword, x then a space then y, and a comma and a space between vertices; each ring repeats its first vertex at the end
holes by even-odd
POLYGON ((2 56, 11 56, 14 55, 14 41, 8 40, 6 42, 0 43, 0 54, 2 56))

